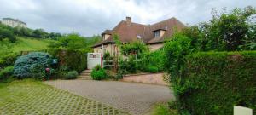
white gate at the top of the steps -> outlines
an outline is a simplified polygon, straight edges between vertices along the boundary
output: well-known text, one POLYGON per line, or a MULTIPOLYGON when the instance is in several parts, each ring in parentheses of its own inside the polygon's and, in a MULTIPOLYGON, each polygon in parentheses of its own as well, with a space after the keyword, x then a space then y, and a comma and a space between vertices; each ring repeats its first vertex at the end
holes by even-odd
POLYGON ((102 65, 102 53, 88 53, 87 68, 92 69, 96 65, 102 65))

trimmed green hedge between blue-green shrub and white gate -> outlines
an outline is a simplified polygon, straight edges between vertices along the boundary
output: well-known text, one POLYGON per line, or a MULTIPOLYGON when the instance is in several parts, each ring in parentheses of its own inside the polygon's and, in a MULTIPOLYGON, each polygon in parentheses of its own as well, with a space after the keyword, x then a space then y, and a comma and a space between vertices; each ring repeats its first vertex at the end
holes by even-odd
MULTIPOLYGON (((49 53, 53 58, 58 59, 58 67, 67 66, 69 71, 82 72, 87 68, 87 51, 77 49, 44 49, 38 51, 49 53)), ((27 53, 22 52, 21 54, 26 55, 27 53)))

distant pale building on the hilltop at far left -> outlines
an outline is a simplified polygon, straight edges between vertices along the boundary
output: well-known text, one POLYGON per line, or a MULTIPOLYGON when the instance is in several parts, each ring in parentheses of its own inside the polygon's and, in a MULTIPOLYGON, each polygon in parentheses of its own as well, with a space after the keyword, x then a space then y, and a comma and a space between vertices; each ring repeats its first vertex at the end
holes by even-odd
POLYGON ((22 22, 22 21, 17 20, 17 19, 3 18, 3 19, 1 20, 1 22, 2 22, 4 25, 8 25, 8 26, 12 26, 12 27, 16 27, 16 26, 19 26, 19 27, 26 27, 26 23, 25 23, 25 22, 22 22))

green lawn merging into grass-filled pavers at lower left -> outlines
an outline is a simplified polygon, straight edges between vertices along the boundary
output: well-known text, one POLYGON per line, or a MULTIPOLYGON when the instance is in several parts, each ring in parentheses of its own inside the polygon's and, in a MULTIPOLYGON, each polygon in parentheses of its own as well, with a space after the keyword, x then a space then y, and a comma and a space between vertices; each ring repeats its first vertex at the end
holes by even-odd
POLYGON ((33 80, 0 83, 0 114, 126 114, 33 80))

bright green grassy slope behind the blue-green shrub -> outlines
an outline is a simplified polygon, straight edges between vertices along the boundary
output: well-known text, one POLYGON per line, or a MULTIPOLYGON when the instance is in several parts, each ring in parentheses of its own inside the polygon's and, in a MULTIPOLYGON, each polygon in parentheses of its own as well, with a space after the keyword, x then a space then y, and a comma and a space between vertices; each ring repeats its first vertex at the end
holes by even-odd
POLYGON ((47 49, 49 43, 55 42, 54 40, 42 39, 38 40, 35 38, 29 37, 18 37, 18 41, 13 47, 14 52, 19 51, 28 51, 28 50, 37 50, 37 49, 47 49))

